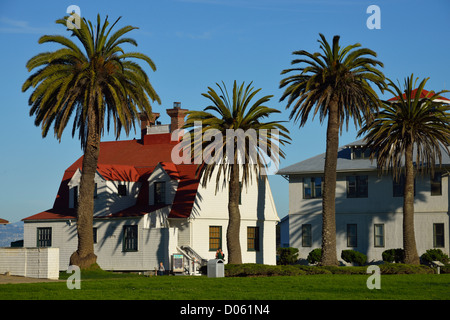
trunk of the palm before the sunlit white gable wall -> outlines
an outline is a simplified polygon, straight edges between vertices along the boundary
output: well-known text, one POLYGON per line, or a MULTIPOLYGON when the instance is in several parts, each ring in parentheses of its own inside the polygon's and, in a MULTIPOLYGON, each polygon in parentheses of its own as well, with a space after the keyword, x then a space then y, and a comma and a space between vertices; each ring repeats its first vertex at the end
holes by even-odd
POLYGON ((239 165, 231 165, 231 174, 228 190, 228 228, 227 228, 227 250, 228 263, 241 264, 241 213, 239 211, 239 196, 241 193, 239 185, 239 165))

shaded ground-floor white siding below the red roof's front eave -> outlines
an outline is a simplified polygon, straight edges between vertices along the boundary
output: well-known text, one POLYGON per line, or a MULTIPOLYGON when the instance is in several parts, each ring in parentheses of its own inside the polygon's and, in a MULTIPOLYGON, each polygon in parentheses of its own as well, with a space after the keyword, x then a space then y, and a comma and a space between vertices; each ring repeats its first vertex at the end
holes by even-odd
MULTIPOLYGON (((154 270, 159 262, 163 262, 167 268, 170 255, 175 253, 170 250, 176 247, 177 231, 173 228, 144 228, 143 225, 143 219, 94 220, 94 228, 97 228, 94 253, 99 266, 104 270, 117 271, 154 270), (138 226, 138 250, 135 252, 123 250, 125 225, 138 226)), ((69 226, 68 221, 26 222, 24 246, 36 246, 37 228, 41 226, 52 228, 52 247, 60 248, 60 270, 67 270, 70 256, 78 244, 75 224, 69 226)))

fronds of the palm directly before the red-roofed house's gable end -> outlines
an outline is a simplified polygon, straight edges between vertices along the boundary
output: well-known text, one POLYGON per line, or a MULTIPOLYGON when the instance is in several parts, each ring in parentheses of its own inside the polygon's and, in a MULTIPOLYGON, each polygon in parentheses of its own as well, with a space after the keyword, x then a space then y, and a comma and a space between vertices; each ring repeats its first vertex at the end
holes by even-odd
MULTIPOLYGON (((268 165, 268 162, 277 162, 278 156, 284 158, 283 150, 279 148, 279 144, 284 145, 290 140, 289 131, 281 124, 280 121, 264 122, 265 118, 269 118, 272 114, 280 113, 278 109, 270 108, 264 104, 273 96, 264 96, 256 102, 252 102, 254 96, 261 90, 253 90, 252 83, 244 88, 245 83, 240 86, 233 85, 233 93, 230 96, 227 92, 225 84, 221 87, 219 84, 220 94, 214 89, 208 87, 208 92, 202 95, 208 98, 212 104, 207 106, 203 111, 190 111, 186 119, 185 127, 191 130, 190 146, 194 157, 196 154, 203 153, 205 155, 214 154, 217 161, 202 162, 199 169, 203 184, 207 183, 213 176, 215 169, 220 168, 217 175, 217 181, 220 181, 221 174, 224 178, 229 178, 230 165, 242 164, 242 182, 247 184, 251 172, 259 172, 268 165), (193 129, 196 123, 201 123, 202 131, 197 135, 193 129), (238 148, 237 139, 233 138, 232 133, 249 131, 257 133, 256 135, 246 135, 245 152, 233 152, 231 155, 227 152, 227 147, 234 151, 242 151, 238 148), (211 141, 211 134, 220 133, 223 138, 221 141, 211 141), (197 143, 201 141, 200 143, 197 143), (200 149, 199 149, 200 148, 200 149), (214 152, 217 151, 217 152, 214 152), (223 156, 219 159, 217 156, 223 156), (229 158, 232 156, 233 158, 229 158), (220 161, 221 160, 221 161, 220 161), (253 168, 253 170, 250 170, 253 168)), ((277 165, 277 163, 275 163, 277 165)), ((219 184, 216 184, 216 188, 219 184)))

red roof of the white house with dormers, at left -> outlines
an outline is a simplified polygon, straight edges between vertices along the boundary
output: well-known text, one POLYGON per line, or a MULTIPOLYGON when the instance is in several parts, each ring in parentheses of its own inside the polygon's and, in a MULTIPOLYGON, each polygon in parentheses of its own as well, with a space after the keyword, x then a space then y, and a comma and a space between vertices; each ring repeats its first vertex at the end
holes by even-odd
MULTIPOLYGON (((146 135, 144 140, 100 143, 97 170, 103 178, 114 181, 142 182, 134 206, 105 217, 140 216, 160 208, 148 205, 147 183, 148 177, 158 163, 172 179, 179 181, 169 218, 187 218, 191 215, 199 183, 196 177, 197 165, 175 165, 171 160, 171 152, 178 142, 171 141, 170 138, 170 134, 166 133, 146 135)), ((69 208, 68 183, 77 169, 81 169, 82 161, 83 157, 80 157, 64 172, 53 208, 23 220, 75 218, 75 209, 69 208)))

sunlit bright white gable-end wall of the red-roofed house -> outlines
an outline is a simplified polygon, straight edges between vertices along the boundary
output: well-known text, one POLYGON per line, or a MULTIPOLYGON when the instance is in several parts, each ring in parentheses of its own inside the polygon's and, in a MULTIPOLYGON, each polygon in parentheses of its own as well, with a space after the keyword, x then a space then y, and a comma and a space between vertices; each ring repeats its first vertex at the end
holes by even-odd
MULTIPOLYGON (((276 223, 278 214, 267 180, 254 181, 242 187, 240 242, 244 263, 276 264, 276 223), (247 250, 247 227, 259 227, 260 250, 247 250)), ((214 259, 215 250, 209 250, 209 226, 222 227, 222 249, 228 257, 226 231, 228 227, 228 187, 225 184, 216 193, 215 179, 206 187, 199 185, 191 215, 191 247, 205 259, 214 259)))

